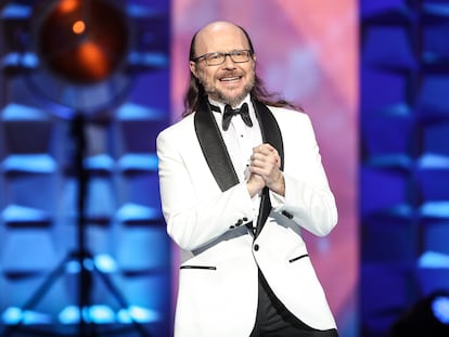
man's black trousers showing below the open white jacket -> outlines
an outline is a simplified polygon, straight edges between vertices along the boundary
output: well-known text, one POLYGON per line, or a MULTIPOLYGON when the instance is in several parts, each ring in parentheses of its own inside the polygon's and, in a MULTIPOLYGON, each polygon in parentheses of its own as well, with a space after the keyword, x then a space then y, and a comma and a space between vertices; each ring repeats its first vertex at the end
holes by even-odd
POLYGON ((259 271, 256 324, 249 337, 338 337, 336 329, 317 330, 292 314, 274 296, 259 271))

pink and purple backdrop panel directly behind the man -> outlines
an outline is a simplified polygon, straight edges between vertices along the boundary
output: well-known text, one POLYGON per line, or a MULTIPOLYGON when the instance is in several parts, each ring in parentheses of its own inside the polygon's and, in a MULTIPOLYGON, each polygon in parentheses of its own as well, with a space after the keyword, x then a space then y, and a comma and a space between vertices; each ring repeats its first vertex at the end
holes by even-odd
MULTIPOLYGON (((171 11, 174 121, 183 108, 191 37, 215 20, 232 21, 247 29, 267 88, 303 106, 311 117, 339 223, 330 236, 307 235, 307 242, 343 336, 350 336, 358 283, 357 1, 176 0, 171 11)), ((174 264, 176 274, 177 261, 174 264)))

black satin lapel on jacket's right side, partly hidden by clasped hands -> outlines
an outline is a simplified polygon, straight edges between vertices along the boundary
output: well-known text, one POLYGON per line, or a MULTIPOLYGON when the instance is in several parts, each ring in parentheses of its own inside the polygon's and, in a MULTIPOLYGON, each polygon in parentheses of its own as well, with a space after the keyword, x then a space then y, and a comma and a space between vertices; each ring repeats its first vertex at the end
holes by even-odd
MULTIPOLYGON (((259 120, 261 135, 264 143, 269 143, 278 150, 281 157, 281 170, 284 164, 284 145, 282 142, 282 134, 278 121, 270 109, 262 103, 254 101, 254 108, 256 111, 257 119, 259 120)), ((271 211, 270 194, 267 187, 264 189, 260 197, 259 217, 257 219, 257 228, 255 236, 259 235, 265 222, 271 211)))

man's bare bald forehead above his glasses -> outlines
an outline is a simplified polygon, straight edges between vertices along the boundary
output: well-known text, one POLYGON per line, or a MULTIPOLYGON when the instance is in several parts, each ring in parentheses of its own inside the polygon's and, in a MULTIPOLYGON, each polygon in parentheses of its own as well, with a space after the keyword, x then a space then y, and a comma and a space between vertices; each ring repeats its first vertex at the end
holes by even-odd
POLYGON ((242 29, 233 25, 208 26, 196 36, 195 51, 197 55, 236 49, 249 49, 249 46, 242 29))

